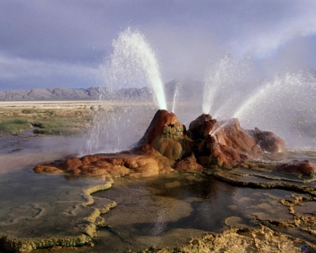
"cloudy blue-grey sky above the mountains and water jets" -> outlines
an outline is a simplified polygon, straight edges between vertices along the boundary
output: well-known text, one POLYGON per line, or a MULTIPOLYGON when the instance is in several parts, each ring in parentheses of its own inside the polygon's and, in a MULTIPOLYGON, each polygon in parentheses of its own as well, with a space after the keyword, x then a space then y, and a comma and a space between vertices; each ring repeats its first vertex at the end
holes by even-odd
POLYGON ((128 27, 165 83, 203 80, 228 54, 260 79, 313 70, 315 13, 315 0, 1 0, 0 91, 101 86, 100 64, 128 27))

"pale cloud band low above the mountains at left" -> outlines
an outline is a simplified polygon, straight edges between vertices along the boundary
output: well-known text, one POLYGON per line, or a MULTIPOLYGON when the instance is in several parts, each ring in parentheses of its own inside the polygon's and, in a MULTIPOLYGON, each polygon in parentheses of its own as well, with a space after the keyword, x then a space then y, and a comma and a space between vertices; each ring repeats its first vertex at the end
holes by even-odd
POLYGON ((1 90, 40 86, 95 86, 98 69, 82 63, 29 60, 0 54, 1 90))

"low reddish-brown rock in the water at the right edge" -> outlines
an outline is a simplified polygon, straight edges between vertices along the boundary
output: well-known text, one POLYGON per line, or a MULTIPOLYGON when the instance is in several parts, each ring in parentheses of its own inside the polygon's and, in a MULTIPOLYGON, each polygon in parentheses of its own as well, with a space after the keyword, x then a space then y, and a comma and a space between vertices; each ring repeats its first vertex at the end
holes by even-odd
POLYGON ((316 164, 310 162, 310 160, 293 160, 291 162, 277 164, 277 170, 289 173, 314 174, 316 164))

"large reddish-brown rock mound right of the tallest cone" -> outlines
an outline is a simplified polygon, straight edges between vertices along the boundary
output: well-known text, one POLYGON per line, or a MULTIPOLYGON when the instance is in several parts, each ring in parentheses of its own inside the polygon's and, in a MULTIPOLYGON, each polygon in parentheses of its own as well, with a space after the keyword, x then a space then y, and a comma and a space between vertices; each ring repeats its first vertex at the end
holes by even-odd
POLYGON ((210 115, 201 115, 191 122, 187 135, 193 139, 192 150, 204 167, 233 167, 258 153, 256 143, 238 119, 217 122, 210 115))

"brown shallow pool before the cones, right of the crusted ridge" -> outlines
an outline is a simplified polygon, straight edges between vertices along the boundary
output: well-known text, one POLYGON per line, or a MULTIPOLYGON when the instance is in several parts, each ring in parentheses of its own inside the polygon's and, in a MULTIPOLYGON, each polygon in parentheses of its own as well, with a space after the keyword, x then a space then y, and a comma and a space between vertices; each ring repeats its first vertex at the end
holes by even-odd
POLYGON ((237 188, 201 174, 115 179, 113 188, 94 195, 117 202, 104 216, 112 228, 99 233, 108 242, 107 252, 151 245, 175 247, 187 243, 184 235, 193 231, 195 236, 223 231, 230 216, 239 217, 239 223, 250 228, 258 228, 254 215, 261 213, 281 212, 283 219, 291 219, 287 207, 278 202, 289 197, 288 192, 237 188))

